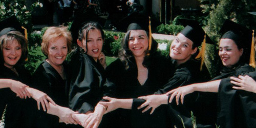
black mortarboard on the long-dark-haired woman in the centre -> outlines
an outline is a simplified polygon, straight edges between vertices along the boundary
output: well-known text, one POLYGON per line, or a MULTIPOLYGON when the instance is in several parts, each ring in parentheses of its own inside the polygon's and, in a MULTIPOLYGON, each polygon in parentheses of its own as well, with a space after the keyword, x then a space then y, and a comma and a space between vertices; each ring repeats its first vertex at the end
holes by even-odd
POLYGON ((129 30, 145 30, 149 32, 149 18, 138 12, 133 12, 132 14, 124 17, 120 22, 120 31, 126 32, 129 30))

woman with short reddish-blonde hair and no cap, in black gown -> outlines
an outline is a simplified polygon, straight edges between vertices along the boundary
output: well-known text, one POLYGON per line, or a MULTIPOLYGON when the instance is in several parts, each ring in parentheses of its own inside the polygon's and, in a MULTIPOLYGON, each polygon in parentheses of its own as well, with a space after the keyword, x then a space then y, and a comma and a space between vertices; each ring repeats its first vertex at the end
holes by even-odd
POLYGON ((46 127, 53 125, 56 127, 59 121, 66 124, 77 124, 72 118, 72 114, 75 112, 68 109, 69 86, 66 84, 68 77, 66 57, 71 51, 71 42, 71 33, 67 27, 49 27, 42 36, 41 50, 47 59, 38 66, 33 74, 33 85, 36 89, 47 93, 58 104, 50 105, 48 111, 65 110, 62 114, 67 118, 60 117, 59 119, 56 116, 41 113, 38 114, 40 116, 36 116, 38 117, 36 120, 44 121, 44 123, 38 122, 40 126, 44 124, 46 127))

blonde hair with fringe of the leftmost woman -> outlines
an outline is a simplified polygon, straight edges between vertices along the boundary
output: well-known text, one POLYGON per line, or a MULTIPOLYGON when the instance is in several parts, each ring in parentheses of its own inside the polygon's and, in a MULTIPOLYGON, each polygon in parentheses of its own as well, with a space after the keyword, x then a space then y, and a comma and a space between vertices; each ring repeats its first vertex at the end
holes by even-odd
POLYGON ((28 40, 25 38, 25 36, 19 32, 19 31, 10 31, 5 35, 2 35, 0 37, 0 62, 4 63, 3 58, 3 47, 7 47, 9 42, 12 42, 13 40, 17 40, 18 43, 22 46, 22 56, 18 60, 18 63, 22 63, 25 61, 25 59, 28 56, 28 40))

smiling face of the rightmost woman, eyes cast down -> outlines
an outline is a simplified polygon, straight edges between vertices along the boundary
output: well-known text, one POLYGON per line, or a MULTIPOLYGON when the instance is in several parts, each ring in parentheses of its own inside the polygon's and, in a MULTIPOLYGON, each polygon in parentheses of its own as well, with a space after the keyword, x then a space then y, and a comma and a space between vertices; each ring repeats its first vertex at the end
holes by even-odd
POLYGON ((239 61, 243 54, 243 49, 238 49, 237 44, 228 38, 222 38, 219 45, 219 56, 222 64, 227 68, 232 68, 239 61))

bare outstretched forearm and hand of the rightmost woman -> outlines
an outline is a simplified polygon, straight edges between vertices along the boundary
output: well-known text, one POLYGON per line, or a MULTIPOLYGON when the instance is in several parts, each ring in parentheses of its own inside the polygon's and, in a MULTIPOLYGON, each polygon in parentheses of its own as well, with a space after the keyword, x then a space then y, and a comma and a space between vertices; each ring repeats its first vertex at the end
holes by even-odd
POLYGON ((221 79, 214 80, 210 82, 203 82, 203 83, 194 83, 190 84, 188 86, 179 87, 177 89, 174 89, 172 91, 169 91, 166 93, 166 95, 170 95, 169 103, 173 101, 173 98, 176 96, 176 103, 179 104, 179 99, 181 100, 181 103, 183 104, 184 96, 190 93, 193 93, 195 91, 199 92, 218 92, 219 86, 220 86, 221 79))

